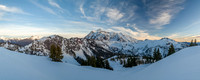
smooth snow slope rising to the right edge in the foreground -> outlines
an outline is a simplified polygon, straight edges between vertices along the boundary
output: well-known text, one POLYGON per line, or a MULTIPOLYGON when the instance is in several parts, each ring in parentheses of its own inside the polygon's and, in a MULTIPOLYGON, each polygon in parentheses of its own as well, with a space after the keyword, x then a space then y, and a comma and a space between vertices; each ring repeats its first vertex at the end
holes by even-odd
MULTIPOLYGON (((136 75, 135 80, 200 80, 200 47, 185 48, 158 61, 136 75)), ((134 72, 133 72, 134 73, 134 72)), ((131 73, 130 73, 131 74, 131 73)))

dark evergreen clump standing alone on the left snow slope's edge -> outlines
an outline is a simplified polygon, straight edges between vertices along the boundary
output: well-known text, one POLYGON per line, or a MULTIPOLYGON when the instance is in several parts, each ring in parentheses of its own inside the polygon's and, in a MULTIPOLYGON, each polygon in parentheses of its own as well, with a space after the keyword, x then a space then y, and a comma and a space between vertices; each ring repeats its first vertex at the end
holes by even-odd
POLYGON ((54 44, 51 45, 51 49, 50 49, 50 56, 52 61, 56 61, 56 62, 62 62, 62 51, 61 48, 59 46, 55 46, 54 44))

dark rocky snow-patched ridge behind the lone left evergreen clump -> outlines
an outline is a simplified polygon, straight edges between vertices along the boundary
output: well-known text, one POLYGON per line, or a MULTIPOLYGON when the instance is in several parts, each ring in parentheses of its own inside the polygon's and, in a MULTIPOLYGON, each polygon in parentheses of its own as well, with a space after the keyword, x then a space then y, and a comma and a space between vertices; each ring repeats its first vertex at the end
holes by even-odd
POLYGON ((87 56, 102 56, 104 58, 113 55, 112 52, 99 46, 95 40, 84 38, 63 38, 58 35, 43 37, 33 43, 22 47, 21 51, 27 54, 47 56, 50 52, 50 46, 56 44, 62 48, 62 53, 73 57, 86 59, 87 56))

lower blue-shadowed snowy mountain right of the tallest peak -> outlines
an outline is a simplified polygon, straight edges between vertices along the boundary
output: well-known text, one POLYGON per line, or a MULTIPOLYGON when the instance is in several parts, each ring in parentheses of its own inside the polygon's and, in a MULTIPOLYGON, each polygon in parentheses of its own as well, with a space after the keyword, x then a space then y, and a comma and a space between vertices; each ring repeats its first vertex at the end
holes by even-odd
POLYGON ((144 41, 134 44, 133 47, 134 47, 134 51, 136 52, 136 54, 139 54, 139 55, 153 55, 152 53, 153 53, 154 49, 159 48, 161 54, 163 56, 166 56, 171 44, 174 45, 175 51, 179 51, 183 48, 188 47, 188 45, 185 43, 176 42, 169 38, 162 38, 160 40, 147 40, 146 39, 144 41))

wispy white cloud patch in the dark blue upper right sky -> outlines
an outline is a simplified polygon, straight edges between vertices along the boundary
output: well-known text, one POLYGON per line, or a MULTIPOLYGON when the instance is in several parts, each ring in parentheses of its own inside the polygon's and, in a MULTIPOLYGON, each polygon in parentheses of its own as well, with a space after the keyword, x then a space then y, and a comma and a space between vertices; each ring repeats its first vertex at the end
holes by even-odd
POLYGON ((149 23, 157 29, 162 29, 183 8, 181 5, 185 0, 143 0, 146 13, 149 16, 149 23))

